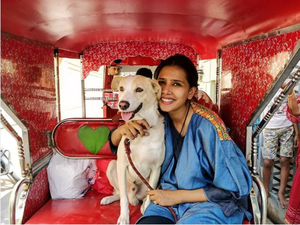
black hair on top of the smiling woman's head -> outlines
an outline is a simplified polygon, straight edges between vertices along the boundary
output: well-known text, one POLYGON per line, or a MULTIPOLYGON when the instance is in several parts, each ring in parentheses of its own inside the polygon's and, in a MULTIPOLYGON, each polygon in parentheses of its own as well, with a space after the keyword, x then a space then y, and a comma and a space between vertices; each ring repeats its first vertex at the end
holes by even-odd
POLYGON ((178 66, 186 74, 186 79, 190 87, 198 87, 198 73, 193 62, 185 55, 173 55, 163 60, 154 72, 154 78, 158 79, 158 75, 165 66, 178 66))

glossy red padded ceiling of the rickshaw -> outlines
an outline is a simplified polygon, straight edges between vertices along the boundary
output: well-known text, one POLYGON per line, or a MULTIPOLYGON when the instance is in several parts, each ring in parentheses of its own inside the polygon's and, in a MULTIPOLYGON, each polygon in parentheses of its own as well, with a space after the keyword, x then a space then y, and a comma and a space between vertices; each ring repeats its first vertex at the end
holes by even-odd
POLYGON ((1 30, 82 52, 99 42, 185 43, 201 55, 300 23, 299 0, 5 0, 1 30))

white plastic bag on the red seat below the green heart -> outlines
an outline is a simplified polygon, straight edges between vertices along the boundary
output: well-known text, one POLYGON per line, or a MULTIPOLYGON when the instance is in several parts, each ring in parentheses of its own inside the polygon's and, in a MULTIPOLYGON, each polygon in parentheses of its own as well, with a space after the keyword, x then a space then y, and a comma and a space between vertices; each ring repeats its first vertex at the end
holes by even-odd
POLYGON ((67 159, 53 154, 47 168, 52 199, 80 198, 97 179, 94 159, 67 159))

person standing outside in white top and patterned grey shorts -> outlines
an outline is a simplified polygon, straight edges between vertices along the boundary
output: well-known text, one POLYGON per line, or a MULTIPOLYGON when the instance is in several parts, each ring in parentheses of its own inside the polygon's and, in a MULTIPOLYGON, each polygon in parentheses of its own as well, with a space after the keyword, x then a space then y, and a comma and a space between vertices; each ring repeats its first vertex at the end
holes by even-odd
MULTIPOLYGON (((275 97, 271 100, 267 109, 275 102, 276 98, 281 93, 279 90, 275 97)), ((279 151, 280 155, 280 187, 278 191, 278 200, 283 209, 287 208, 288 201, 285 198, 285 189, 288 182, 290 173, 290 161, 293 157, 294 147, 298 146, 298 125, 293 124, 286 117, 285 103, 287 99, 275 112, 269 123, 266 125, 263 137, 264 146, 262 148, 263 157, 263 184, 267 193, 270 197, 270 177, 271 171, 274 166, 274 160, 276 154, 279 151)))

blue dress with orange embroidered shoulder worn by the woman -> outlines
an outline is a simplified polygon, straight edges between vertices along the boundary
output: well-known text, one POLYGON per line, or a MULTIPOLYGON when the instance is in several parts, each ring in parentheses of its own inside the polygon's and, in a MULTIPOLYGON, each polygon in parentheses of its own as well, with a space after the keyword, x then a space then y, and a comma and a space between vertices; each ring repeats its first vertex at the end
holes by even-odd
MULTIPOLYGON (((207 202, 172 206, 178 224, 242 224, 252 178, 244 155, 212 111, 191 103, 189 123, 177 165, 173 154, 170 118, 165 119, 165 160, 161 187, 169 190, 203 188, 207 202)), ((167 207, 150 203, 143 217, 163 216, 174 221, 167 207)))

